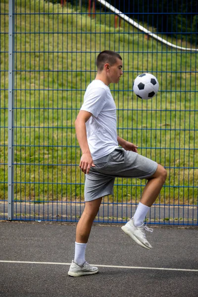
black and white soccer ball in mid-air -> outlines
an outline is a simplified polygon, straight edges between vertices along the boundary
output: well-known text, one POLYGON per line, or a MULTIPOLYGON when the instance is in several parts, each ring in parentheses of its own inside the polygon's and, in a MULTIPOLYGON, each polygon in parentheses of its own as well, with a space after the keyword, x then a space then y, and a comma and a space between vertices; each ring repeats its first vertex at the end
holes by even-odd
POLYGON ((133 85, 134 93, 141 99, 153 98, 159 90, 156 77, 150 73, 143 73, 136 77, 133 85))

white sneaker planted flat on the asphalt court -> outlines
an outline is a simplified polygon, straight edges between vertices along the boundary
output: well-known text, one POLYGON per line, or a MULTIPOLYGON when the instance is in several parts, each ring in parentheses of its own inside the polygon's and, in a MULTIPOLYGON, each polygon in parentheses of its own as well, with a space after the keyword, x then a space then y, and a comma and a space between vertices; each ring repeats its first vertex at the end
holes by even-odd
POLYGON ((95 274, 97 272, 99 272, 99 268, 90 266, 90 264, 86 261, 83 265, 78 265, 76 262, 72 260, 72 263, 68 271, 68 275, 77 277, 86 274, 95 274))

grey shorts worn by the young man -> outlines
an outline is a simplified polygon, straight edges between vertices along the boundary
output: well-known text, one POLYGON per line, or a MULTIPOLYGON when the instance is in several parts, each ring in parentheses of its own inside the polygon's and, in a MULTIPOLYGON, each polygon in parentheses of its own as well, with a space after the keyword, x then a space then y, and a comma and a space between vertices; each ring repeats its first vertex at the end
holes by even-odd
POLYGON ((112 195, 116 177, 148 179, 157 169, 156 162, 124 148, 115 148, 94 164, 86 174, 85 201, 112 195))

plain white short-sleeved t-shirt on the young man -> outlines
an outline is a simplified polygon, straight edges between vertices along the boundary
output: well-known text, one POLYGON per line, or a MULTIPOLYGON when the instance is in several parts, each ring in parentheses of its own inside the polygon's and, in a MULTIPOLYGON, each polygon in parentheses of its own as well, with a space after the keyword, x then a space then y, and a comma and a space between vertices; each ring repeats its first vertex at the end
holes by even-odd
POLYGON ((100 80, 87 87, 81 110, 92 113, 86 122, 87 140, 93 160, 118 148, 116 106, 110 89, 100 80))

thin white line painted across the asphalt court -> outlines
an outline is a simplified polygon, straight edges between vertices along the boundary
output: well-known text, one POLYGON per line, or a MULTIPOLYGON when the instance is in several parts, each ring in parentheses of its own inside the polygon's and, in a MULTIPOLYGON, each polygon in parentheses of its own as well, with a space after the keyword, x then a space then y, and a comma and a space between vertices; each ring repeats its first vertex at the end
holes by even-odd
MULTIPOLYGON (((20 264, 71 265, 71 263, 58 263, 58 262, 7 261, 7 260, 0 260, 0 262, 1 263, 20 263, 20 264)), ((163 267, 137 267, 137 266, 116 266, 116 265, 98 265, 98 264, 91 264, 91 265, 92 266, 98 266, 98 267, 107 267, 107 268, 173 270, 173 271, 192 271, 192 272, 198 272, 198 269, 163 268, 163 267)))

